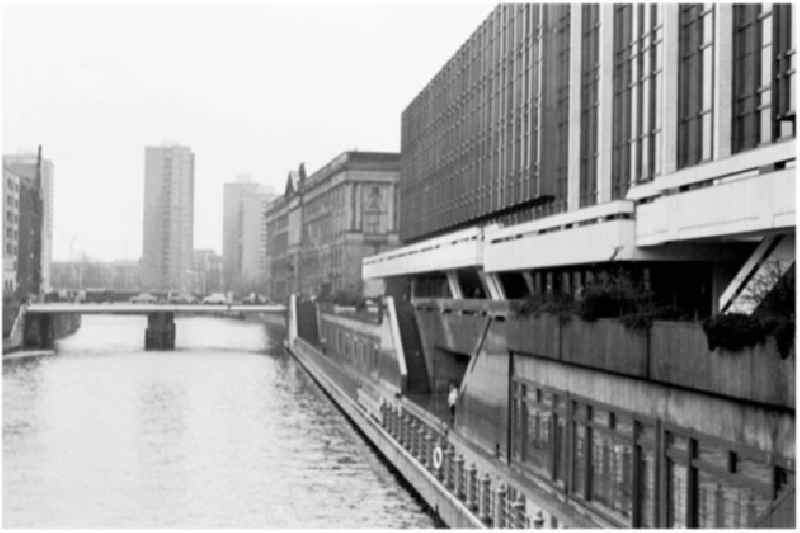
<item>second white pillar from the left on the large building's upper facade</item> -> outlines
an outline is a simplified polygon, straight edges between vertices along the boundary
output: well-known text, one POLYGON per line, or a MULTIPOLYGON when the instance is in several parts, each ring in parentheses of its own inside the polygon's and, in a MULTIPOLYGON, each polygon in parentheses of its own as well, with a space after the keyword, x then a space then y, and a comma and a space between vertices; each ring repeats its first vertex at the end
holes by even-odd
POLYGON ((614 4, 600 4, 597 84, 597 203, 611 201, 614 150, 614 4))

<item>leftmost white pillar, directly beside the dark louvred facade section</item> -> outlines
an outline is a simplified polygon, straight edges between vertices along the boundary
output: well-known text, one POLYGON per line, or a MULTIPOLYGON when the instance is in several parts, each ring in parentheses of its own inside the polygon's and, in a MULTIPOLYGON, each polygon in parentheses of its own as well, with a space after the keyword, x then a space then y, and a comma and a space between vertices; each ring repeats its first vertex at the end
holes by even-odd
POLYGON ((567 211, 581 204, 581 24, 580 4, 570 6, 569 131, 567 133, 567 211))

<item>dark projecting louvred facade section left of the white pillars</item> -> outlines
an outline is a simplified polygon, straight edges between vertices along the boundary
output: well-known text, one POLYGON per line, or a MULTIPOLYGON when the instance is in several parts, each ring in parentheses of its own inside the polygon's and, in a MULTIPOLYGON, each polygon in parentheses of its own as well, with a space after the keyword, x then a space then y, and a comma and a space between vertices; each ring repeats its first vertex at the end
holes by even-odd
POLYGON ((569 20, 568 5, 499 6, 405 109, 403 240, 566 208, 569 20))

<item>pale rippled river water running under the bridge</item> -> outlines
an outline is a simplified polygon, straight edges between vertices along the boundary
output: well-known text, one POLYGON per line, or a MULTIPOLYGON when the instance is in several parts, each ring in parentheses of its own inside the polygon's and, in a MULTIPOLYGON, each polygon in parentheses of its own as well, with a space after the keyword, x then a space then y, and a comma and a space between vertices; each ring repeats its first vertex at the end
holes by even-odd
POLYGON ((434 525, 280 348, 280 330, 87 316, 57 355, 3 364, 3 526, 434 525))

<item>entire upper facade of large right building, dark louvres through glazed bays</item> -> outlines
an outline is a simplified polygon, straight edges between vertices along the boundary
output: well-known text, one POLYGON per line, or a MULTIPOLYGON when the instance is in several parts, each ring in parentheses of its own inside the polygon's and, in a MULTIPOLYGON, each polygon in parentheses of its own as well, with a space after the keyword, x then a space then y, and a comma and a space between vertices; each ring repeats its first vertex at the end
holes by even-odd
POLYGON ((401 239, 545 217, 568 197, 570 209, 624 199, 678 169, 795 137, 791 13, 498 6, 403 112, 401 239))

